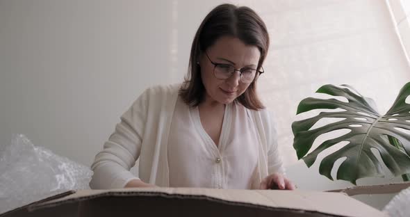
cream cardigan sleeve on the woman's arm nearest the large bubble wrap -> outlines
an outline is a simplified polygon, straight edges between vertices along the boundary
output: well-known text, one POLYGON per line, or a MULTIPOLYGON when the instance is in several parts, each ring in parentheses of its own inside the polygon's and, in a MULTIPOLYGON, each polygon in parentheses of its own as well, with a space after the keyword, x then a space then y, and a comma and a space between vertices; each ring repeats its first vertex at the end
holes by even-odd
POLYGON ((90 188, 123 188, 131 179, 139 179, 130 172, 140 156, 142 135, 147 120, 148 91, 145 90, 122 116, 115 131, 95 156, 90 188))

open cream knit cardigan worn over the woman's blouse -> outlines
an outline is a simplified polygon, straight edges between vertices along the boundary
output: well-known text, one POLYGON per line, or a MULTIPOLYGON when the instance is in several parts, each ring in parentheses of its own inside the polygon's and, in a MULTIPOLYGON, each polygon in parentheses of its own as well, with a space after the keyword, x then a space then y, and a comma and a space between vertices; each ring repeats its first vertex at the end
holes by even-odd
MULTIPOLYGON (((91 188, 123 188, 131 179, 157 186, 169 186, 167 141, 172 115, 178 98, 178 85, 155 86, 145 90, 126 111, 95 156, 91 188), (129 170, 139 162, 139 177, 129 170)), ((273 172, 284 172, 276 141, 276 131, 265 109, 249 110, 259 131, 259 172, 252 188, 273 172)))

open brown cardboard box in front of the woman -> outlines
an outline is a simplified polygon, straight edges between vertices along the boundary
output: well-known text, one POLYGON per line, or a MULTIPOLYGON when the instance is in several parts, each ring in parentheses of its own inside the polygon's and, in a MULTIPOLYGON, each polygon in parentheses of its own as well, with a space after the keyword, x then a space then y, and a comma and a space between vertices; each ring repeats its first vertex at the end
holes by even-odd
POLYGON ((122 188, 56 195, 15 216, 386 216, 344 193, 210 188, 122 188))

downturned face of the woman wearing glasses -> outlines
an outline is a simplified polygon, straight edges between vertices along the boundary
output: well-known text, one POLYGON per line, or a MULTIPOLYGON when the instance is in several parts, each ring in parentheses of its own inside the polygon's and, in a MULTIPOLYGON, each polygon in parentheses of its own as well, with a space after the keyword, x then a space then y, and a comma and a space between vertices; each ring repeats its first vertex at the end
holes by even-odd
MULTIPOLYGON (((261 52, 256 46, 245 45, 238 38, 223 36, 212 47, 206 49, 206 54, 213 63, 233 65, 236 70, 242 68, 256 69, 261 52)), ((205 100, 229 104, 245 92, 250 83, 240 81, 240 72, 235 71, 228 79, 217 79, 214 75, 214 65, 206 57, 200 56, 202 82, 206 90, 205 100)), ((258 72, 256 72, 258 73, 258 72)))

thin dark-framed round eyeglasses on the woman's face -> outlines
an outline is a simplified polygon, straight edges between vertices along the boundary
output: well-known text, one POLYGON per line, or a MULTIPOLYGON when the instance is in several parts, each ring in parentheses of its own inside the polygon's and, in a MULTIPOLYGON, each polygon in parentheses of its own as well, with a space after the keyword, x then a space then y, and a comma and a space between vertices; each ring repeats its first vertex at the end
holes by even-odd
POLYGON ((240 81, 242 81, 242 83, 252 83, 254 82, 256 77, 259 77, 262 73, 265 72, 265 70, 263 70, 263 67, 261 67, 262 71, 250 69, 247 67, 243 67, 240 70, 236 70, 235 67, 233 67, 233 65, 231 64, 214 63, 213 61, 211 61, 211 58, 209 58, 206 52, 205 52, 205 55, 208 58, 208 60, 212 63, 212 65, 214 66, 213 74, 217 79, 229 79, 233 75, 233 73, 238 71, 240 72, 239 78, 240 78, 240 81))

